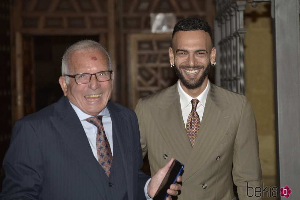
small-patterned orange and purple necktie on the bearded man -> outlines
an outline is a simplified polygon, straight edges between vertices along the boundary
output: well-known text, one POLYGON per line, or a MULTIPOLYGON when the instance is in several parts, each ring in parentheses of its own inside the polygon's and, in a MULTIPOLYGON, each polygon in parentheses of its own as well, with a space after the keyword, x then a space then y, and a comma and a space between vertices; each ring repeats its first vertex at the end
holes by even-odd
POLYGON ((197 98, 194 98, 191 102, 192 111, 189 113, 189 118, 186 122, 186 133, 189 136, 189 141, 191 142, 191 145, 194 146, 201 122, 200 117, 196 112, 199 100, 197 98))

